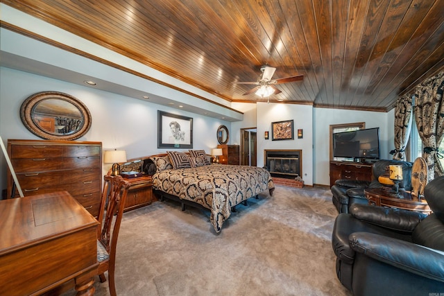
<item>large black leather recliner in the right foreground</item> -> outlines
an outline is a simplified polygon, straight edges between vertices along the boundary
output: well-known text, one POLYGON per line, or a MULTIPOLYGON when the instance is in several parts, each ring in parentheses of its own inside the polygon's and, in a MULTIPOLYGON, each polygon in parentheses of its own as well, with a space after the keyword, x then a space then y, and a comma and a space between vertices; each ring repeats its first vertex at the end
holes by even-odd
POLYGON ((425 187, 433 213, 354 204, 334 223, 336 275, 354 295, 443 295, 444 176, 425 187), (441 293, 441 294, 440 294, 441 293))

